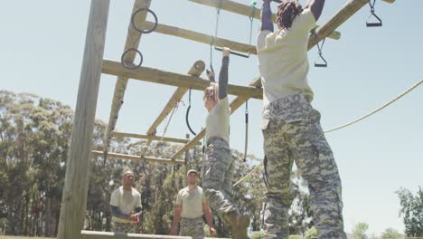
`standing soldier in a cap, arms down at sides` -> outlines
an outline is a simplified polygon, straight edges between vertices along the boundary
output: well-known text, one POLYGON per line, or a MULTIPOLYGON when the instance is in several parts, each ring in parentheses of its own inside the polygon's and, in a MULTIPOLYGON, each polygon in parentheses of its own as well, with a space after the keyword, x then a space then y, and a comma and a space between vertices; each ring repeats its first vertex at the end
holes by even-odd
POLYGON ((179 190, 174 204, 174 223, 170 235, 173 235, 176 225, 181 219, 181 235, 203 238, 202 215, 205 215, 209 225, 210 234, 214 236, 216 231, 212 225, 211 211, 207 199, 202 192, 202 187, 197 186, 198 172, 189 170, 186 179, 188 186, 179 190), (181 217, 182 216, 182 217, 181 217))

